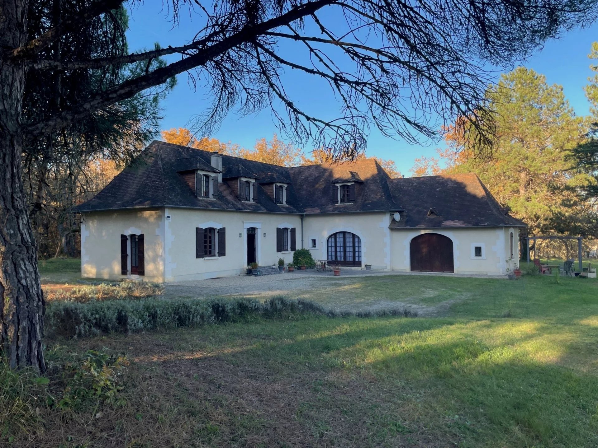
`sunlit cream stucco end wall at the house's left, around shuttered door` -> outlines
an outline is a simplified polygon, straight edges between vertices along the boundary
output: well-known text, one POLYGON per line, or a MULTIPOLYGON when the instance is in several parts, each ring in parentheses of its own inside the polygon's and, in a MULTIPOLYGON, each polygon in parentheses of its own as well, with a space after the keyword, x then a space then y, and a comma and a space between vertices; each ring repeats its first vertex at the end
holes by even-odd
MULTIPOLYGON (((81 277, 127 278, 121 274, 120 235, 144 234, 145 275, 164 280, 164 213, 162 210, 106 211, 81 219, 81 277)), ((138 278, 133 276, 133 278, 138 278)))

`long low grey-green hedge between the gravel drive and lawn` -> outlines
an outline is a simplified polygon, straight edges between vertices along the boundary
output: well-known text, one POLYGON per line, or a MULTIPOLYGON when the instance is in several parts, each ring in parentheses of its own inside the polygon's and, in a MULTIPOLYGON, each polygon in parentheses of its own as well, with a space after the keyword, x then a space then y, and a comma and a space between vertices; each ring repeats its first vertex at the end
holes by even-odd
POLYGON ((197 327, 247 321, 251 318, 289 318, 301 315, 329 317, 374 317, 382 315, 417 315, 407 310, 354 314, 322 308, 301 299, 273 297, 267 302, 255 299, 144 299, 53 302, 45 314, 45 330, 51 336, 86 337, 102 333, 136 333, 157 329, 197 327))

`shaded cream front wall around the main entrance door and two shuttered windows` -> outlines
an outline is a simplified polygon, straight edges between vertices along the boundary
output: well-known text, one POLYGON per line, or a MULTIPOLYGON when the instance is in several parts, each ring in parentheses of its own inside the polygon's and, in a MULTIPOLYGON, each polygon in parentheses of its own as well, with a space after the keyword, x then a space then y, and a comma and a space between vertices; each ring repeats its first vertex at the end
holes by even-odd
MULTIPOLYGON (((283 258, 292 261, 291 251, 276 252, 276 228, 295 228, 297 248, 301 247, 301 218, 297 214, 245 213, 238 211, 167 209, 169 242, 166 281, 239 275, 247 268, 247 230, 257 228, 257 262, 269 266, 283 258), (196 227, 226 228, 224 257, 195 257, 196 227), (241 235, 239 237, 239 234, 241 235), (264 237, 264 234, 266 236, 264 237)), ((289 241, 290 247, 290 241, 289 241)))

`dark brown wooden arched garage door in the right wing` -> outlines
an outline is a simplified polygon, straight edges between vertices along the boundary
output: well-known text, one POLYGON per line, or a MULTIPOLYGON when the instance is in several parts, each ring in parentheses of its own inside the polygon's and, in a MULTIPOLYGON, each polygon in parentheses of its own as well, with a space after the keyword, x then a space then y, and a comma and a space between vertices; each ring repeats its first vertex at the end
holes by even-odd
POLYGON ((440 234, 423 234, 413 238, 411 271, 454 272, 453 241, 440 234))

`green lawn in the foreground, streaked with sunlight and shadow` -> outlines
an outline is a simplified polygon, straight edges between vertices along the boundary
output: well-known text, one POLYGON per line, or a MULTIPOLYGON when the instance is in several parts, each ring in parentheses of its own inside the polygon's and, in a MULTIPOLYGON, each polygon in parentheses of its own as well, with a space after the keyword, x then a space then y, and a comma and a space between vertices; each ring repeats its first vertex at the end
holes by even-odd
POLYGON ((359 281, 369 294, 443 303, 443 317, 297 317, 48 340, 51 363, 87 348, 126 352, 127 403, 42 411, 43 423, 26 426, 30 438, 13 444, 598 446, 598 282, 359 281))

